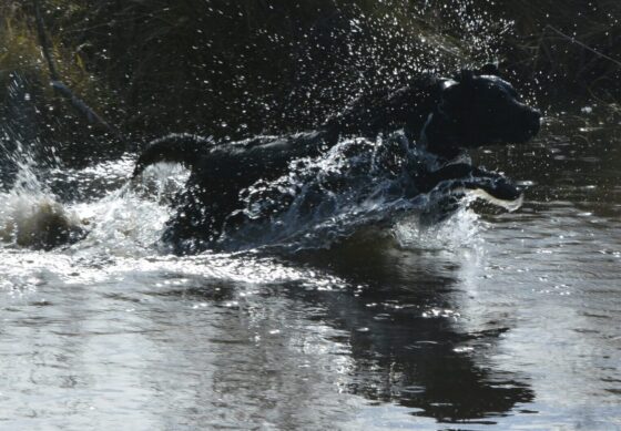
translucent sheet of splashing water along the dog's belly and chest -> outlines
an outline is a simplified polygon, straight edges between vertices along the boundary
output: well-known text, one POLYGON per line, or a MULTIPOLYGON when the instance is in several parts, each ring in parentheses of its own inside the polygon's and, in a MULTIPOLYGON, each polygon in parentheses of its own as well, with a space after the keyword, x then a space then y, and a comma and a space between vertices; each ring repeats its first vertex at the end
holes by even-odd
MULTIPOLYGON (((292 162, 279 178, 242 191, 244 207, 230 216, 216 245, 227 250, 320 249, 369 226, 389 230, 407 218, 398 229, 405 232, 421 217, 451 219, 464 195, 471 196, 466 203, 478 195, 454 189, 451 181, 420 193, 418 176, 434 163, 401 132, 377 141, 344 140, 316 158, 292 162)), ((467 232, 472 218, 460 219, 467 232)))

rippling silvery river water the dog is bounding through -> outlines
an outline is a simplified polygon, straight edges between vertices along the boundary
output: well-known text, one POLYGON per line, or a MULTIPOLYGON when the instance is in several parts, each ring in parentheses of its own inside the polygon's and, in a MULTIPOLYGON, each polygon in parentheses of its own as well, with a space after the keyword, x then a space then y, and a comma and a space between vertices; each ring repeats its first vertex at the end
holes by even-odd
POLYGON ((24 160, 3 228, 59 205, 91 233, 4 235, 0 429, 621 429, 620 124, 549 114, 532 143, 472 153, 528 186, 516 212, 298 253, 169 255, 181 168, 130 193, 132 157, 24 160))

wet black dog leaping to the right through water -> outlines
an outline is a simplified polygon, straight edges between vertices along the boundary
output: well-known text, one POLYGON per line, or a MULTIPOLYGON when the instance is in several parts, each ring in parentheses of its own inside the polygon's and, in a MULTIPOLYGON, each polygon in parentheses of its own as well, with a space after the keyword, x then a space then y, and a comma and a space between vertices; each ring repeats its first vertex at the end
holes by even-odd
POLYGON ((419 164, 406 166, 416 183, 411 196, 457 179, 461 187, 515 199, 520 191, 508 179, 456 158, 466 148, 527 142, 538 133, 540 117, 498 76, 495 66, 487 65, 480 71, 464 70, 455 79, 426 78, 391 94, 363 98, 315 132, 223 145, 189 134, 169 135, 149 145, 133 175, 159 162, 177 162, 191 168, 164 240, 179 253, 196 252, 217 238, 227 217, 241 208, 241 191, 258 179, 278 178, 292 161, 318 156, 347 136, 374 140, 403 129, 409 142, 416 141, 430 153, 435 160, 423 168, 419 164))

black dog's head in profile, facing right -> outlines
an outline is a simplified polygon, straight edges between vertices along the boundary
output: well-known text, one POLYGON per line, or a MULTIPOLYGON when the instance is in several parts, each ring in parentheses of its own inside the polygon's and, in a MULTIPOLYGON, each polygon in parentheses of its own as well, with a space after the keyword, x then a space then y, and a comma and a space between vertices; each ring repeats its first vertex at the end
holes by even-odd
POLYGON ((445 82, 437 114, 460 147, 523 143, 537 135, 541 113, 528 106, 491 64, 445 82))

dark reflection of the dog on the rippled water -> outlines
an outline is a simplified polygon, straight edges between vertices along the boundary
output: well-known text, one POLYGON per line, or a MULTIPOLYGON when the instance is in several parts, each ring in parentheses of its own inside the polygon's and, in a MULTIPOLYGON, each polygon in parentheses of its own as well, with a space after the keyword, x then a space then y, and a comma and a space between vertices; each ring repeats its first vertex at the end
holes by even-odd
POLYGON ((478 363, 477 356, 495 351, 510 328, 501 322, 462 328, 452 259, 411 250, 370 257, 370 265, 369 254, 327 257, 338 261, 333 266, 338 274, 365 284, 354 296, 342 293, 326 301, 326 317, 348 332, 354 393, 449 422, 481 421, 532 400, 518 373, 478 363))

